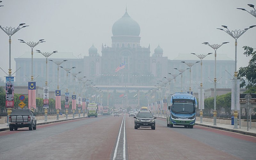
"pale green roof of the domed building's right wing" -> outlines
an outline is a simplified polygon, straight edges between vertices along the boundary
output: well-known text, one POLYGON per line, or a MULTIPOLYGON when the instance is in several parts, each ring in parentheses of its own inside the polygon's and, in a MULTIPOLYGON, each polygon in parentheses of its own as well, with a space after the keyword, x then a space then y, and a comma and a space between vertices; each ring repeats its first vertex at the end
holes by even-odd
MULTIPOLYGON (((175 57, 175 56, 173 56, 175 57)), ((227 54, 217 54, 217 60, 233 60, 229 58, 227 54)), ((200 60, 196 55, 190 53, 180 53, 178 57, 173 58, 172 60, 200 60)), ((214 53, 206 56, 203 60, 214 60, 214 53)))

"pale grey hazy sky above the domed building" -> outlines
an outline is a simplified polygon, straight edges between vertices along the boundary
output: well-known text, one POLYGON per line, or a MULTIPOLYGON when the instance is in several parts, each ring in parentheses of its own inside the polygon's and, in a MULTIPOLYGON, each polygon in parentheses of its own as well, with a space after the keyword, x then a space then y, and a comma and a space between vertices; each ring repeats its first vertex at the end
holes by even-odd
MULTIPOLYGON (((128 14, 139 23, 141 46, 151 46, 151 53, 160 44, 164 56, 174 59, 179 53, 208 53, 212 48, 201 44, 221 44, 217 54, 227 54, 235 60, 235 39, 221 28, 244 29, 256 25, 256 18, 236 8, 251 10, 247 4, 256 5, 255 0, 2 0, 0 25, 18 27, 26 23, 12 36, 12 73, 14 58, 31 52, 27 42, 45 39, 34 50, 42 52, 73 52, 75 56, 88 56, 94 44, 101 55, 101 44, 111 46, 112 25, 120 19, 127 6, 128 14)), ((8 72, 9 37, 0 30, 0 67, 8 72)), ((247 66, 243 55, 244 45, 256 48, 256 27, 249 29, 238 39, 237 68, 247 66)), ((39 53, 34 53, 39 54, 39 53)), ((212 60, 214 60, 214 56, 212 60)), ((196 59, 197 57, 195 57, 196 59)), ((217 56, 218 60, 218 56, 217 56)), ((0 70, 0 76, 6 76, 0 70)))

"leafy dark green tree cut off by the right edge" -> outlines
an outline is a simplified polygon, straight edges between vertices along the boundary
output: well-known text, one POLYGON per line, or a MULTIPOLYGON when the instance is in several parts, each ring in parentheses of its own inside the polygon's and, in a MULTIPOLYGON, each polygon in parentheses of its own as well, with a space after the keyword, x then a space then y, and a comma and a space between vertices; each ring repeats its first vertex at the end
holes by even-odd
POLYGON ((238 78, 242 79, 240 87, 248 89, 248 93, 256 93, 256 51, 252 47, 244 46, 244 55, 246 57, 252 56, 247 67, 240 67, 238 71, 238 78), (246 85, 245 79, 248 81, 246 85))

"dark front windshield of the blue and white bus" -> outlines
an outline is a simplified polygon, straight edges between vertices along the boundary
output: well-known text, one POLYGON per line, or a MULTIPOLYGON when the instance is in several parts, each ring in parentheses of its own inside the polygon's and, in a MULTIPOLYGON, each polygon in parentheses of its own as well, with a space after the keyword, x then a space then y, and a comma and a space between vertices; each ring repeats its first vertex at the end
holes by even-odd
POLYGON ((192 114, 195 112, 194 104, 191 103, 174 103, 172 105, 172 112, 179 114, 192 114))

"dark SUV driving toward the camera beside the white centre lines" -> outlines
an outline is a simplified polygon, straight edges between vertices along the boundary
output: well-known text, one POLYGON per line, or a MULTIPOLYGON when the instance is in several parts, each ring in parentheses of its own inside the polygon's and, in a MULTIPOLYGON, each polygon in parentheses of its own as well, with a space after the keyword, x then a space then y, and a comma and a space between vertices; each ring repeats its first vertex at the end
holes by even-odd
POLYGON ((156 117, 153 116, 151 111, 139 111, 136 117, 134 117, 134 129, 140 127, 151 127, 152 130, 156 129, 156 117))

